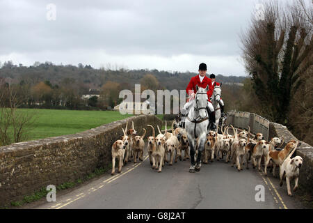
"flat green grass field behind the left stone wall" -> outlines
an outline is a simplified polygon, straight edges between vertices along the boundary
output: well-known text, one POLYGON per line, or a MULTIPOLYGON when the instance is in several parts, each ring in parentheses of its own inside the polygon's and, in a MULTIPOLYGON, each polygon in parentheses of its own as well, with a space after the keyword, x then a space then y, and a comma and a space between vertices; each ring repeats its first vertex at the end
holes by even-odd
POLYGON ((118 121, 133 115, 115 111, 76 111, 58 109, 18 109, 35 113, 34 122, 27 127, 28 141, 83 132, 99 125, 118 121))

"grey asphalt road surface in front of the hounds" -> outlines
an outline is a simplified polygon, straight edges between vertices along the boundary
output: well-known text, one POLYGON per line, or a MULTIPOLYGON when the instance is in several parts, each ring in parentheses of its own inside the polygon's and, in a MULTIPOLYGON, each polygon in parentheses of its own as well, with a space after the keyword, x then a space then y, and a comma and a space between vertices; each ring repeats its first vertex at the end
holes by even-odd
MULTIPOLYGON (((129 163, 121 174, 104 174, 67 193, 56 202, 31 208, 303 208, 279 179, 256 169, 237 171, 230 163, 202 164, 200 172, 188 172, 190 160, 165 164, 152 170, 147 154, 141 163, 129 163), (257 185, 264 187, 264 201, 256 201, 257 185)), ((260 187, 262 187, 260 186, 260 187)))

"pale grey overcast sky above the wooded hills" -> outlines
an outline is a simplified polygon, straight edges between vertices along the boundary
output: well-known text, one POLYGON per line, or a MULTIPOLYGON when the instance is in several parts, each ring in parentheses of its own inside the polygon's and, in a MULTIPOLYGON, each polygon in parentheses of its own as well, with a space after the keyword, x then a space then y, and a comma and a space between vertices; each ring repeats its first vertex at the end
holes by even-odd
POLYGON ((246 75, 239 33, 257 0, 0 0, 0 61, 246 75), (53 8, 56 6, 56 20, 53 8))

